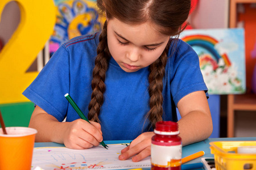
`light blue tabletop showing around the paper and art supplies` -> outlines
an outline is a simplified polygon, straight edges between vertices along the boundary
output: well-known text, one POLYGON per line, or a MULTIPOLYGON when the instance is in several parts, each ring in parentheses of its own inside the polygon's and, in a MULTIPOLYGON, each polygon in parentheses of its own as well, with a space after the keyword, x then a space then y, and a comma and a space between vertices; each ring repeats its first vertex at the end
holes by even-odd
MULTIPOLYGON (((210 154, 210 142, 215 141, 256 141, 256 137, 247 137, 247 138, 208 138, 204 141, 193 143, 191 145, 184 146, 182 148, 182 157, 194 154, 199 151, 204 151, 204 156, 201 156, 200 158, 194 159, 189 161, 185 164, 190 163, 198 163, 201 162, 201 158, 213 158, 213 154, 210 154)), ((110 143, 130 143, 131 141, 104 141, 106 145, 110 143)), ((63 147, 63 144, 54 143, 54 142, 36 142, 35 147, 63 147)), ((204 169, 204 168, 200 168, 204 169)))

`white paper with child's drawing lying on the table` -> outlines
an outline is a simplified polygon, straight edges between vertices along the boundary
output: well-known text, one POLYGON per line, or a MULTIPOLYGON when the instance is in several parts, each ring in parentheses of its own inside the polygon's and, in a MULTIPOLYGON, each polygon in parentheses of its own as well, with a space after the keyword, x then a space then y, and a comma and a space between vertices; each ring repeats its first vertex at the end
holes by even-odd
POLYGON ((132 169, 150 168, 150 156, 141 162, 119 160, 118 156, 126 145, 109 145, 108 150, 102 146, 89 150, 72 150, 66 147, 38 147, 34 149, 32 169, 73 170, 73 169, 132 169))

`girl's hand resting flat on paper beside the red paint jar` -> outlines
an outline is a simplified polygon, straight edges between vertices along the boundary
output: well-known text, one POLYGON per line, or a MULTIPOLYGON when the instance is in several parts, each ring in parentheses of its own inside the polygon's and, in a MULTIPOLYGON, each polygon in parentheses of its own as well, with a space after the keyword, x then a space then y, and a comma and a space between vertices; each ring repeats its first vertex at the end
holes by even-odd
POLYGON ((154 135, 153 131, 145 132, 139 135, 129 146, 124 148, 119 155, 119 160, 126 160, 133 156, 131 160, 133 162, 139 162, 140 160, 150 156, 151 154, 151 138, 154 135), (134 156, 135 155, 135 156, 134 156))

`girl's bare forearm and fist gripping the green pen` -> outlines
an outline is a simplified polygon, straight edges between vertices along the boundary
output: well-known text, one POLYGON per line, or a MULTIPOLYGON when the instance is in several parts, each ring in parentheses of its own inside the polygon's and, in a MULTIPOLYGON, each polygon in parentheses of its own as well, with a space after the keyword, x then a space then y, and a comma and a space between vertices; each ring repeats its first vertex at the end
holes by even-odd
POLYGON ((29 127, 38 130, 36 142, 64 143, 68 148, 84 149, 98 146, 103 140, 100 124, 90 123, 82 119, 59 122, 36 105, 29 127))

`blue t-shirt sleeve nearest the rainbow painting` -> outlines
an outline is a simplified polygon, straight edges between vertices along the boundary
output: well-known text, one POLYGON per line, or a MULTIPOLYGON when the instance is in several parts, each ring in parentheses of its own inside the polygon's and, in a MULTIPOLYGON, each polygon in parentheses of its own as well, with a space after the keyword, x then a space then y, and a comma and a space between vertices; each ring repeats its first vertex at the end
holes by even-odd
POLYGON ((176 106, 182 97, 195 91, 205 91, 207 98, 209 97, 201 74, 199 57, 191 46, 182 40, 177 41, 171 61, 171 93, 176 106))

